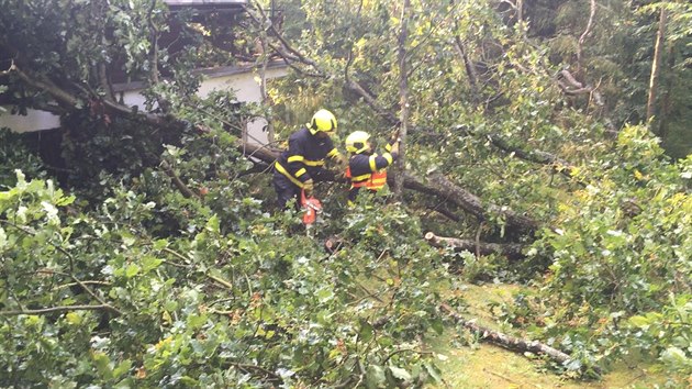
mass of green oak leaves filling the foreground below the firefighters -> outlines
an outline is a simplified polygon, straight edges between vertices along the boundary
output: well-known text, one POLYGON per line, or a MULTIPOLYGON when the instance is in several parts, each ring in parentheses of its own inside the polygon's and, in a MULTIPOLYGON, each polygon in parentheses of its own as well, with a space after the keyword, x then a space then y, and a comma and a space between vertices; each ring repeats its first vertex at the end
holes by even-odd
POLYGON ((438 376, 413 341, 442 331, 429 281, 437 255, 410 243, 420 231, 397 208, 375 220, 354 212, 345 232, 362 238, 328 255, 287 233, 293 212, 272 216, 256 200, 226 198, 244 224, 222 229, 234 221, 205 205, 158 193, 163 207, 113 190, 88 213, 22 174, 0 192, 0 385, 331 386, 361 377, 394 387, 438 376), (188 225, 154 236, 146 226, 164 208, 189 212, 188 225))

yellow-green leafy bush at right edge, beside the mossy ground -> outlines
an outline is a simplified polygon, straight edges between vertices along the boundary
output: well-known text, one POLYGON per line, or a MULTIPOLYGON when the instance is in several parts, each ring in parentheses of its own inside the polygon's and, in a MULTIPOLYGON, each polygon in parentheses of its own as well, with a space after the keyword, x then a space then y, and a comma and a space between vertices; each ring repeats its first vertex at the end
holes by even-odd
POLYGON ((553 256, 544 302, 533 307, 545 325, 537 332, 560 338, 591 364, 628 353, 632 344, 654 354, 670 349, 663 359, 678 360, 672 369, 689 373, 682 342, 691 335, 689 326, 648 332, 683 312, 692 292, 688 165, 669 163, 645 129, 632 126, 621 133, 612 155, 581 173, 598 186, 560 202, 560 226, 544 231, 533 253, 553 256), (632 330, 618 330, 623 316, 633 316, 632 330))

